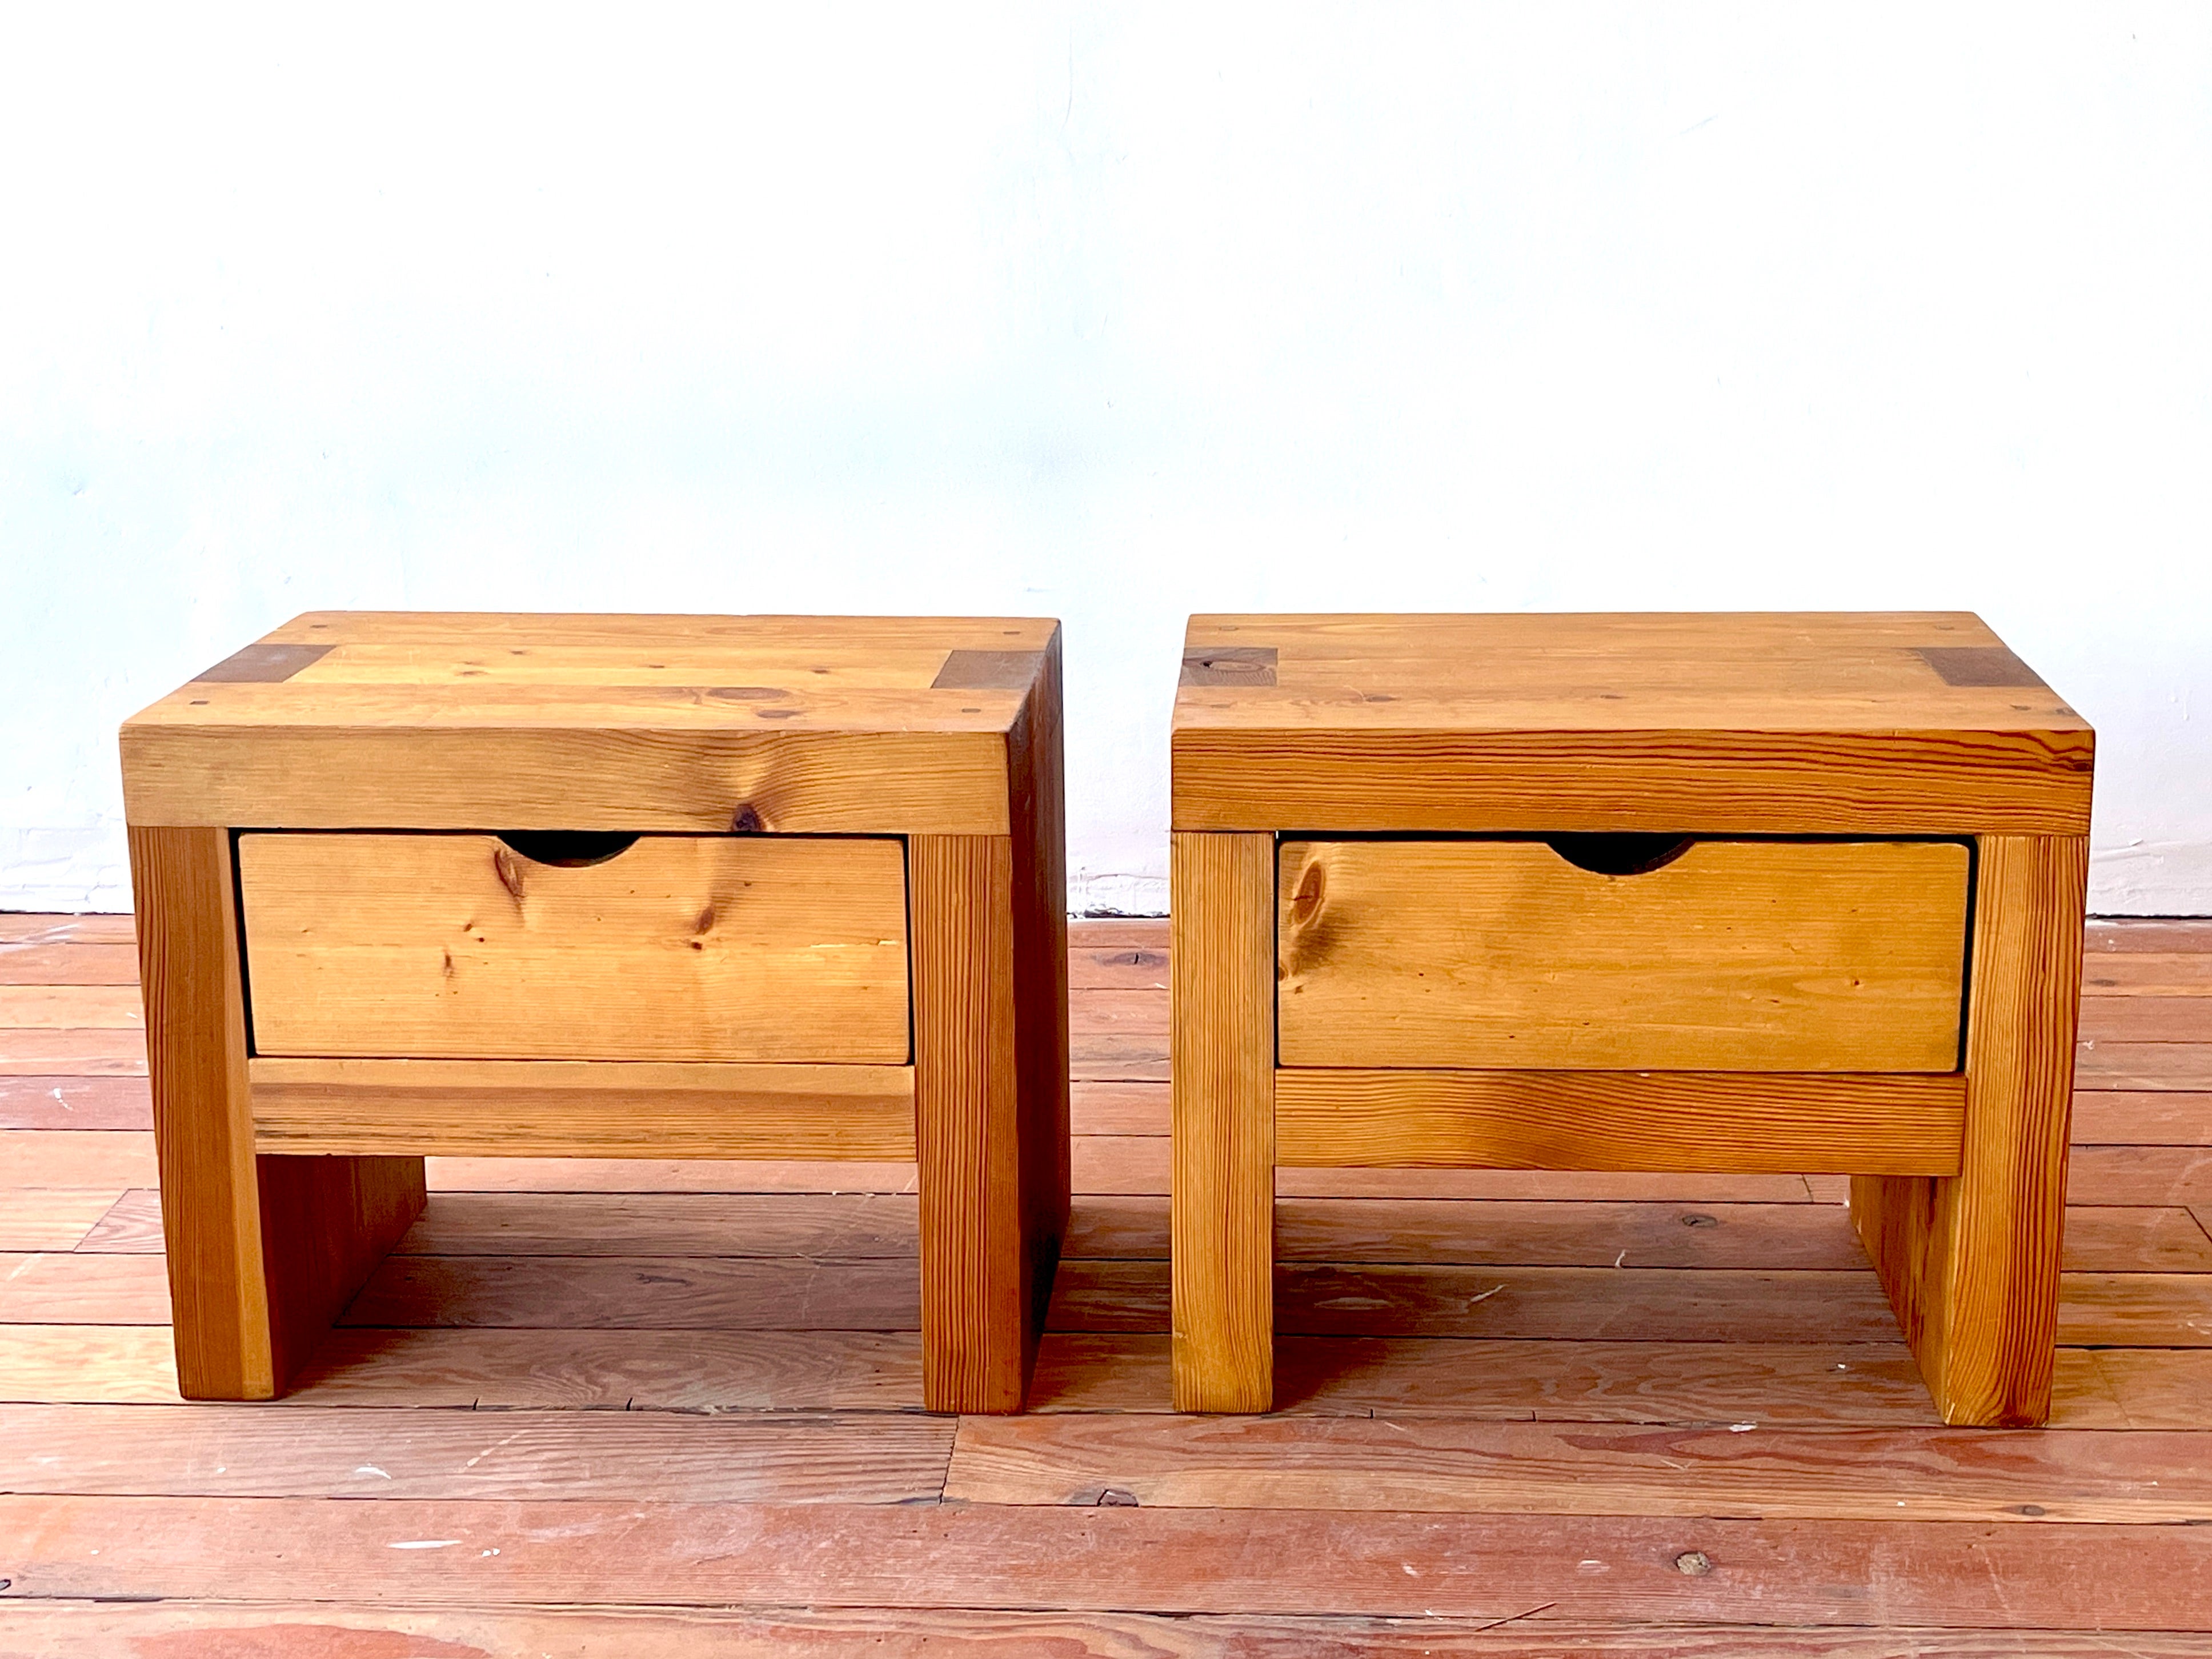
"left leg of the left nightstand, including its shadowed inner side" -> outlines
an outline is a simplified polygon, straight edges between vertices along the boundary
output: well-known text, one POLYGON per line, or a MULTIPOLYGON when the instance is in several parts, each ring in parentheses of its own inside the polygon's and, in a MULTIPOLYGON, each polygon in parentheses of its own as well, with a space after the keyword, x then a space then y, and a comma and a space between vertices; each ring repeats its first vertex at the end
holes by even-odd
POLYGON ((422 1212, 418 1157, 254 1157, 226 830, 131 830, 177 1387, 268 1400, 422 1212))

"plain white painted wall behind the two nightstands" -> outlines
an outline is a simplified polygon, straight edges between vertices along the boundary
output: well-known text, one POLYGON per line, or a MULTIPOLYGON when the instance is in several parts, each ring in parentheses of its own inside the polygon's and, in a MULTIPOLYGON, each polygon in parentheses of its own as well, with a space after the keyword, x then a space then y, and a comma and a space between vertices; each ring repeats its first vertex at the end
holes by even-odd
MULTIPOLYGON (((0 907, 319 606, 1962 606, 2212 911, 2212 9, 628 7, 0 31, 0 907)), ((314 18, 301 15, 314 11, 314 18)))

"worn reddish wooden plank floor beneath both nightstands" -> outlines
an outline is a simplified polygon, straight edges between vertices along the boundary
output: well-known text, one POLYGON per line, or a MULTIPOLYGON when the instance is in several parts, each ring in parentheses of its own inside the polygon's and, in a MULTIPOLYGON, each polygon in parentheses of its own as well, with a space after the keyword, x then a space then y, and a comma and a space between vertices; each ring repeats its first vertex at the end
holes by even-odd
POLYGON ((0 916, 0 1655, 2212 1652, 2212 922, 2090 929, 2046 1433, 1936 1427, 1827 1177, 1287 1170, 1283 1411, 1168 1413, 1161 922, 1075 927, 1033 1416, 918 1409, 854 1164, 431 1159, 181 1405, 128 938, 0 916))

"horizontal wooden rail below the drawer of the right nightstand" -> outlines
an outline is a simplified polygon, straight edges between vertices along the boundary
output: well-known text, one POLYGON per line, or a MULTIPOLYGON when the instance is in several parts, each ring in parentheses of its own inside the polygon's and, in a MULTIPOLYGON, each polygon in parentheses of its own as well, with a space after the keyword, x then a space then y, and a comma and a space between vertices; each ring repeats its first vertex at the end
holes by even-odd
POLYGON ((1316 1071, 1274 1075, 1281 1166, 1958 1175, 1962 1077, 1316 1071))

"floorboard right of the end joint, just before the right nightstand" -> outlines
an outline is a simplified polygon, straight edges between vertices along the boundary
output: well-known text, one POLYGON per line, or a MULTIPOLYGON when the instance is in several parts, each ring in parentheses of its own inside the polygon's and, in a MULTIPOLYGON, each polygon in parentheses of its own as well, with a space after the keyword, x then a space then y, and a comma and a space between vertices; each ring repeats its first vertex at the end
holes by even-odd
POLYGON ((1694 1429, 1451 1418, 969 1418, 969 1504, 2181 1524, 2212 1444, 2159 1431, 1694 1429))

